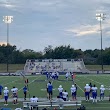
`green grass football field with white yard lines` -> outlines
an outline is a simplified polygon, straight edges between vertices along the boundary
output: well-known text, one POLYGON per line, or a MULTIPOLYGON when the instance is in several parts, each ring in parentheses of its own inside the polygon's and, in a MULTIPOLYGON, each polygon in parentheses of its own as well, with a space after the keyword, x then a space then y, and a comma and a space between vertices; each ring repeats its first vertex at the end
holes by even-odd
MULTIPOLYGON (((29 79, 29 93, 32 97, 33 95, 37 96, 38 98, 46 98, 46 84, 48 81, 45 81, 46 77, 42 75, 37 76, 27 76, 29 79)), ((75 83, 78 86, 78 93, 77 97, 84 97, 84 86, 86 83, 92 83, 96 84, 98 87, 98 96, 99 96, 99 88, 101 84, 104 84, 105 88, 109 88, 110 86, 110 75, 76 75, 75 83)), ((2 84, 4 87, 7 86, 9 90, 16 86, 18 91, 19 98, 23 98, 23 86, 24 81, 21 76, 0 76, 0 84, 2 84)), ((58 95, 57 88, 59 85, 62 85, 65 90, 68 91, 69 97, 71 98, 70 94, 70 87, 72 85, 72 81, 66 81, 65 76, 60 76, 58 81, 53 81, 53 97, 56 97, 58 95)), ((28 97, 29 97, 28 93, 28 97)), ((109 90, 105 91, 105 96, 108 97, 110 94, 109 90)), ((10 93, 11 98, 11 93, 10 93)), ((103 101, 98 102, 97 104, 92 104, 92 101, 90 102, 82 102, 83 105, 86 106, 87 110, 109 110, 110 109, 110 102, 103 101)), ((3 103, 0 103, 0 105, 3 106, 3 103)), ((22 107, 22 102, 19 103, 19 105, 16 105, 13 107, 12 103, 9 103, 8 107, 16 108, 17 106, 22 107)))

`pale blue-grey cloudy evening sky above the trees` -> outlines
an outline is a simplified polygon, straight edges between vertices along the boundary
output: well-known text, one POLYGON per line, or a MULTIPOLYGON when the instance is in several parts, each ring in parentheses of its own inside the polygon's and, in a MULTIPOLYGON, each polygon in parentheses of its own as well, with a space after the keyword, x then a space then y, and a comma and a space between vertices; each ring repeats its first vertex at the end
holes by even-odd
POLYGON ((100 49, 102 21, 103 49, 110 47, 110 0, 0 0, 0 44, 7 41, 3 16, 13 16, 9 24, 9 43, 18 49, 43 51, 71 45, 74 49, 100 49))

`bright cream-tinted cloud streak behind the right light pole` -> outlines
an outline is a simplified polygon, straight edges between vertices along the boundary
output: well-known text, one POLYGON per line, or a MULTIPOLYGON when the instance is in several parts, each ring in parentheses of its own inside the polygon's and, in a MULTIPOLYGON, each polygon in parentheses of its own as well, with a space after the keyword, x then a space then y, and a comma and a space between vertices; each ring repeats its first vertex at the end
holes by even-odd
MULTIPOLYGON (((110 34, 110 20, 102 21, 102 30, 106 33, 106 35, 110 34)), ((69 33, 74 33, 75 36, 85 36, 85 35, 92 35, 97 34, 100 31, 100 24, 96 25, 83 25, 75 28, 70 28, 66 30, 69 33)))

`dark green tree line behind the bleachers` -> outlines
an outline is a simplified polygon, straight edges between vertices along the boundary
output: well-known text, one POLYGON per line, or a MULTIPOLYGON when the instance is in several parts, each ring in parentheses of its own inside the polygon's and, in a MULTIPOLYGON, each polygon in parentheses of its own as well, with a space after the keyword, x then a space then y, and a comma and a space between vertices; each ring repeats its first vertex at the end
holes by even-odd
MULTIPOLYGON (((103 64, 110 65, 110 47, 102 50, 103 64)), ((53 48, 48 45, 43 52, 36 52, 31 49, 18 50, 14 45, 0 46, 0 63, 24 64, 27 59, 80 59, 85 64, 100 65, 102 62, 101 50, 85 50, 74 49, 70 45, 61 45, 53 48)))

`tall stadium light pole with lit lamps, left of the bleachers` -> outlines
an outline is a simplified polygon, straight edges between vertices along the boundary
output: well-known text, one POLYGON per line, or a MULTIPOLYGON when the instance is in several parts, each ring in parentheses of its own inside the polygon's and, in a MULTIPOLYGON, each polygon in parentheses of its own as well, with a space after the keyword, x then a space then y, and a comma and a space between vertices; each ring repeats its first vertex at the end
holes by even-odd
POLYGON ((7 72, 9 72, 9 55, 8 55, 8 45, 9 45, 9 24, 13 21, 13 16, 3 16, 3 21, 7 24, 7 72))

